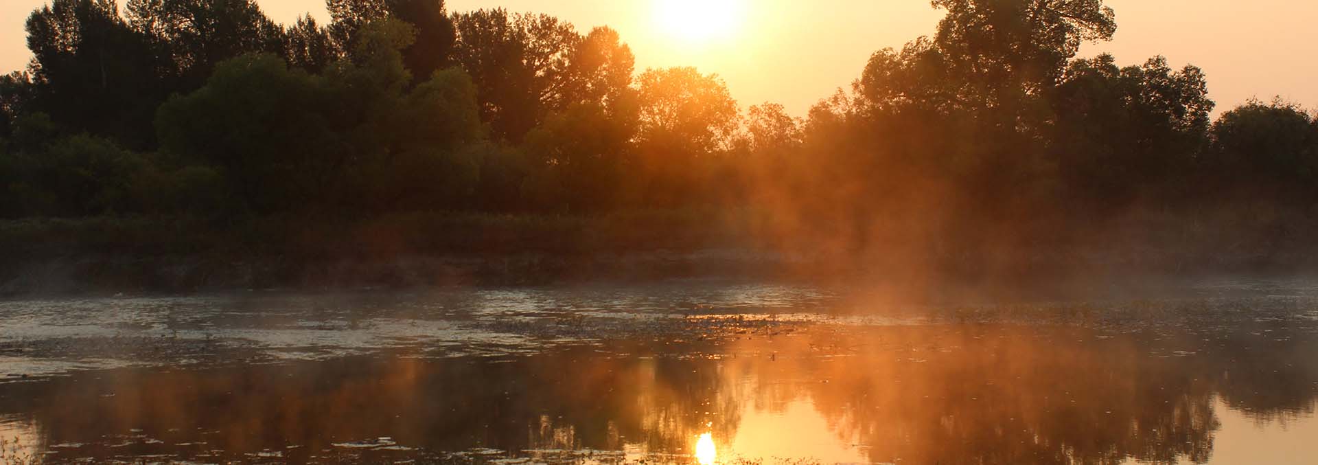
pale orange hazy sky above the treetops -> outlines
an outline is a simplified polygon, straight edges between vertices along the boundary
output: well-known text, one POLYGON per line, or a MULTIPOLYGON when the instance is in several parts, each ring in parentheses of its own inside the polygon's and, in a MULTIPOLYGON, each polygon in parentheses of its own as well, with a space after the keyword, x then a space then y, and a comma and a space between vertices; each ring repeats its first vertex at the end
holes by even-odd
MULTIPOLYGON (((123 0, 121 0, 123 1, 123 0)), ((47 0, 0 0, 0 70, 26 65, 22 22, 47 0)), ((323 0, 258 0, 270 17, 291 22, 323 0)), ((1162 54, 1173 66, 1203 67, 1218 108, 1280 95, 1318 105, 1318 3, 1297 0, 1108 0, 1116 38, 1086 46, 1123 65, 1162 54)), ((646 67, 696 66, 720 74, 742 105, 779 101, 795 113, 847 86, 869 55, 932 34, 941 12, 928 0, 448 0, 449 11, 505 7, 544 12, 579 30, 609 25, 646 67), (720 8, 733 3, 733 7, 720 8), (685 7, 671 7, 684 4, 685 7), (670 7, 666 7, 670 5, 670 7), (702 37, 700 24, 664 20, 672 9, 728 16, 733 33, 702 37), (691 29, 695 30, 691 30, 691 29), (692 36, 701 36, 693 38, 692 36)))

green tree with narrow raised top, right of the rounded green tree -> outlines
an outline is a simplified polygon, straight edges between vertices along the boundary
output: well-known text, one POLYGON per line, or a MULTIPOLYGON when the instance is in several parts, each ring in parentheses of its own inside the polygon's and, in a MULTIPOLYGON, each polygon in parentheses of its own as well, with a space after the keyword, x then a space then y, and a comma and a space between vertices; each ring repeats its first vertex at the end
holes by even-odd
POLYGON ((461 70, 416 86, 403 61, 415 28, 395 18, 368 24, 351 61, 326 72, 330 115, 343 134, 344 187, 332 204, 356 211, 461 208, 478 177, 484 137, 476 88, 461 70))

